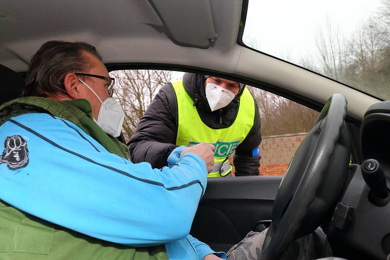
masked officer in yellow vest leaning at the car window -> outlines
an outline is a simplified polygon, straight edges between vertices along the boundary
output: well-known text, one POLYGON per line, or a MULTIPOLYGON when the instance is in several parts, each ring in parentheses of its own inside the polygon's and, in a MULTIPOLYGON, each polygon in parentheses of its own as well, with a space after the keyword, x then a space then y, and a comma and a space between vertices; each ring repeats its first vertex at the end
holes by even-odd
POLYGON ((256 101, 236 81, 186 73, 168 83, 145 111, 128 147, 133 162, 167 165, 178 146, 206 142, 215 146, 209 177, 228 176, 234 152, 236 176, 259 175, 260 117, 256 101))

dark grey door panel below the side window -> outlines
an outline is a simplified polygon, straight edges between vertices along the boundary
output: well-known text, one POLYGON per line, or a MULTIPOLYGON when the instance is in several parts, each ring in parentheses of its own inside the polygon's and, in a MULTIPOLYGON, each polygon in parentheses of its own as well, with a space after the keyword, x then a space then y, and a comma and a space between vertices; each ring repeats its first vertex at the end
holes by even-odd
POLYGON ((227 252, 259 222, 272 219, 272 206, 282 178, 208 178, 191 234, 213 250, 227 252))

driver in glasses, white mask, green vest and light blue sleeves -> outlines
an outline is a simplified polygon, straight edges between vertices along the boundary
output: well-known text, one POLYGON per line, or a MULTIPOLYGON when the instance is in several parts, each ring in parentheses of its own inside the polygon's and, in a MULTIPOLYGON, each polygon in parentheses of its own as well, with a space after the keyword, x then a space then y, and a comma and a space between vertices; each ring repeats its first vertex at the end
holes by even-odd
POLYGON ((131 163, 113 85, 89 44, 32 57, 24 97, 0 107, 1 259, 225 258, 189 235, 214 146, 174 149, 160 170, 131 163))

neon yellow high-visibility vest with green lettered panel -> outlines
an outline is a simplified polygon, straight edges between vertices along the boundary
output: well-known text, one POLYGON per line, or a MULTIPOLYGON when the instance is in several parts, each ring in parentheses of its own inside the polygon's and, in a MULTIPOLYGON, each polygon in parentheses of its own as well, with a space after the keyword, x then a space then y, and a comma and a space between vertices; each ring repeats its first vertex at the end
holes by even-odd
POLYGON ((209 177, 227 176, 232 166, 227 167, 227 157, 233 154, 244 141, 254 124, 254 98, 248 89, 240 97, 239 109, 233 124, 228 128, 212 129, 203 123, 194 100, 186 92, 182 81, 172 83, 177 99, 178 127, 177 146, 193 146, 198 143, 211 143, 215 146, 215 167, 209 177), (226 160, 226 162, 225 162, 226 160))

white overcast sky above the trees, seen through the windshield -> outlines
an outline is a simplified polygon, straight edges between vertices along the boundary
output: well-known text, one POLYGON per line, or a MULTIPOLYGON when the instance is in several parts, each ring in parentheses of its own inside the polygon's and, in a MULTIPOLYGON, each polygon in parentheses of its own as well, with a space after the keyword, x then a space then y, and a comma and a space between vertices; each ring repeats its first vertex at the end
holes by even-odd
POLYGON ((314 55, 315 37, 327 21, 349 38, 380 5, 381 0, 250 0, 244 43, 249 36, 260 51, 294 62, 314 55))

